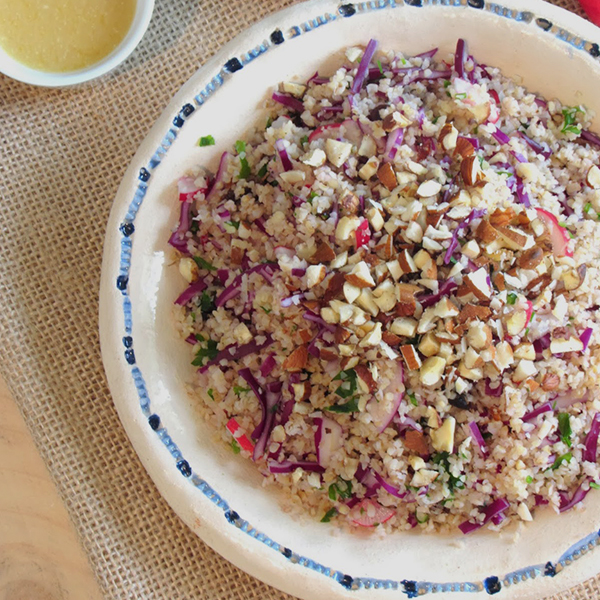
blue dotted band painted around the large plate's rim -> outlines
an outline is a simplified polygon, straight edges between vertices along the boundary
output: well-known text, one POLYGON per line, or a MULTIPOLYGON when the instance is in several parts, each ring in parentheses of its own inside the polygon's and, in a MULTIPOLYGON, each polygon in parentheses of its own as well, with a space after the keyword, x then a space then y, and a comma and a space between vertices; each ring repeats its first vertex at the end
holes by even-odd
MULTIPOLYGON (((497 14, 501 17, 512 19, 517 22, 523 22, 527 24, 535 23, 535 25, 543 31, 573 46, 577 50, 587 52, 593 58, 600 57, 600 47, 596 43, 573 35, 565 29, 554 25, 545 18, 536 19, 535 15, 529 11, 513 10, 494 2, 486 2, 485 0, 404 0, 404 2, 396 2, 396 0, 372 0, 370 2, 347 3, 338 7, 337 14, 325 13, 324 15, 319 15, 314 19, 309 19, 300 25, 292 26, 288 31, 287 39, 295 38, 303 33, 309 33, 310 31, 332 21, 336 21, 337 19, 350 18, 361 13, 382 9, 394 9, 406 5, 414 8, 421 8, 423 6, 446 6, 456 7, 459 9, 471 8, 476 10, 486 10, 490 13, 497 14)), ((147 166, 140 169, 137 190, 131 203, 129 204, 125 219, 119 226, 119 231, 121 232, 122 236, 121 258, 119 264, 119 276, 116 279, 116 287, 123 295, 125 333, 123 337, 123 346, 125 347, 124 358, 126 362, 131 365, 131 375, 138 392, 140 408, 144 416, 148 419, 150 428, 157 433, 159 439, 169 450, 173 456, 173 459, 175 460, 175 466, 180 473, 184 477, 188 478, 191 484, 200 490, 209 500, 223 510, 224 517, 229 523, 247 535, 255 538, 259 542, 262 542, 266 546, 273 548, 273 550, 282 554, 292 563, 302 565, 303 567, 321 573, 325 577, 332 578, 348 590, 399 589, 403 591, 408 598, 416 598, 427 593, 436 592, 482 592, 484 590, 489 595, 494 595, 500 592, 503 587, 508 588, 511 585, 515 585, 522 581, 535 579, 536 577, 541 576, 554 577, 560 573, 562 569, 570 565, 574 560, 577 560, 584 554, 587 554, 598 544, 600 544, 600 531, 592 532, 568 548, 560 556, 556 563, 549 561, 545 564, 532 565, 511 573, 507 573, 502 578, 499 578, 496 575, 491 575, 483 581, 477 582, 434 583, 427 581, 412 581, 407 579, 402 581, 394 581, 389 579, 384 580, 368 577, 352 577, 342 573, 341 571, 331 569, 310 558, 293 552, 290 548, 282 546, 278 542, 269 538, 267 535, 255 529, 236 511, 232 510, 229 507, 229 504, 206 481, 201 479, 196 473, 193 472, 190 464, 183 457, 179 447, 169 435, 167 429, 162 426, 160 416, 151 411, 150 397, 148 396, 148 392, 146 390, 146 384, 144 382, 141 370, 136 366, 132 337, 132 307, 127 289, 129 282, 129 270, 131 267, 131 236, 135 232, 135 217, 146 195, 149 185, 148 182, 152 176, 152 171, 160 165, 162 158, 166 155, 173 141, 177 137, 178 130, 184 126, 186 118, 189 117, 197 108, 200 108, 214 94, 214 92, 223 85, 226 79, 231 77, 235 72, 243 69, 248 63, 253 61, 261 54, 267 52, 267 50, 270 48, 284 43, 285 40, 286 37, 284 33, 281 30, 276 29, 270 35, 269 40, 262 41, 260 44, 248 50, 245 54, 242 54, 239 57, 230 58, 225 65, 223 65, 221 70, 205 86, 205 88, 193 98, 193 103, 187 103, 181 108, 179 113, 173 118, 173 126, 169 128, 163 137, 162 142, 151 156, 147 166)))

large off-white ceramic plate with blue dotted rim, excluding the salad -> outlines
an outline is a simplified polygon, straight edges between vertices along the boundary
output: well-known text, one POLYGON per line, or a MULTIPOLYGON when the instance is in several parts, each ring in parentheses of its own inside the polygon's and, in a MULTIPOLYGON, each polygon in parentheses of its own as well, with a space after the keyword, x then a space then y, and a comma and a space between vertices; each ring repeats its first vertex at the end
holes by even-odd
POLYGON ((142 462, 177 514, 252 575, 305 599, 541 598, 600 571, 600 493, 583 512, 541 512, 518 542, 480 531, 432 537, 334 535, 294 520, 239 457, 214 447, 185 390, 189 347, 171 322, 183 288, 169 265, 176 179, 221 151, 257 117, 279 81, 325 70, 348 45, 451 51, 468 40, 479 61, 531 90, 600 111, 599 30, 538 0, 313 0, 275 14, 223 48, 175 95, 142 144, 108 223, 100 294, 102 355, 119 415, 142 462), (423 4, 423 6, 420 6, 423 4), (282 41, 283 40, 283 41, 282 41), (212 134, 217 146, 196 146, 212 134), (440 597, 440 596, 438 596, 440 597))

